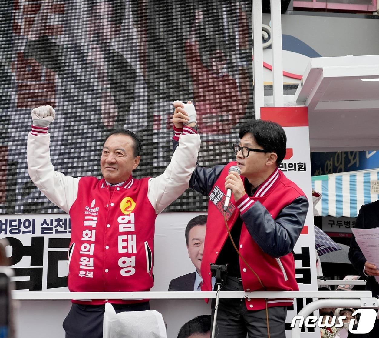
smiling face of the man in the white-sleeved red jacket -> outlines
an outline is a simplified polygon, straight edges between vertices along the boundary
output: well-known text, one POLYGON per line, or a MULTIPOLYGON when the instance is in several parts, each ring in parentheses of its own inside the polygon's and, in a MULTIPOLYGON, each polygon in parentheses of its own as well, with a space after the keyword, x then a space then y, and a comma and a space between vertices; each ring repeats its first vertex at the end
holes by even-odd
POLYGON ((140 159, 140 156, 134 156, 132 137, 124 134, 111 135, 105 141, 100 159, 103 177, 110 184, 127 181, 140 159))

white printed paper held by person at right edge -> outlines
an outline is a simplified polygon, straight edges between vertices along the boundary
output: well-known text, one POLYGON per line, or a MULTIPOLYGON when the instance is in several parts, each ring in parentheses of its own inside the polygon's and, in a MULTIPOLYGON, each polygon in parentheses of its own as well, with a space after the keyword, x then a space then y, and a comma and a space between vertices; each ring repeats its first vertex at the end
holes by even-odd
MULTIPOLYGON (((357 244, 366 260, 379 267, 379 227, 373 229, 351 229, 356 237, 357 244)), ((375 276, 379 283, 379 276, 375 276)))

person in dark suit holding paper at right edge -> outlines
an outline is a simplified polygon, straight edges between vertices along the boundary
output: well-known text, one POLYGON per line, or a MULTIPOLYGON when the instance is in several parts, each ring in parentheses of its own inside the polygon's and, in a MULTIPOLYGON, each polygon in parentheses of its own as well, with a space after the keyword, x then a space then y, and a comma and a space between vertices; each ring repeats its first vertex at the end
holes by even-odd
MULTIPOLYGON (((360 208, 354 228, 373 229, 379 226, 379 201, 368 203, 360 208)), ((378 240, 379 241, 379 240, 378 240)), ((372 262, 368 262, 357 244, 354 234, 351 237, 349 259, 357 272, 366 280, 366 290, 372 292, 373 297, 379 295, 379 284, 375 276, 379 276, 379 268, 372 262)), ((368 333, 370 338, 379 336, 379 320, 377 319, 374 328, 368 333)))

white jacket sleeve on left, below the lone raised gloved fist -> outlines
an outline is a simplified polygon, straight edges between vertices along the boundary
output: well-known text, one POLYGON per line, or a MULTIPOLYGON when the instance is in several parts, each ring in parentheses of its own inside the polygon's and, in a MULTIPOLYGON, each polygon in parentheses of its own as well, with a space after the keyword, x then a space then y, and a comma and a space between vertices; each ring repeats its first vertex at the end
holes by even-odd
POLYGON ((79 179, 54 170, 50 161, 50 134, 28 135, 28 172, 31 180, 56 206, 69 213, 78 196, 79 179))

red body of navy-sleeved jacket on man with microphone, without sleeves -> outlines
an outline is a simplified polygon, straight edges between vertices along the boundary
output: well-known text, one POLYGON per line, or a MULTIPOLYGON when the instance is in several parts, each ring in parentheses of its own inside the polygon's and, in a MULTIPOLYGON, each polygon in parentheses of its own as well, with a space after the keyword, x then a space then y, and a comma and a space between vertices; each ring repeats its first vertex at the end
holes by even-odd
MULTIPOLYGON (((209 264, 216 262, 219 252, 228 237, 224 217, 222 215, 222 207, 226 195, 225 178, 232 165, 236 165, 236 162, 231 162, 226 165, 210 194, 207 231, 201 264, 201 275, 204 280, 202 285, 203 291, 211 291, 211 273, 209 264)), ((244 177, 241 176, 241 179, 243 180, 244 177)), ((285 206, 290 205, 300 196, 305 196, 301 189, 287 179, 282 171, 277 169, 260 185, 260 188, 255 192, 251 199, 262 203, 270 212, 271 216, 276 219, 285 206), (264 189, 261 189, 262 187, 264 187, 264 189)), ((227 223, 230 229, 233 228, 239 215, 240 211, 237 208, 232 195, 226 214, 228 219, 227 223)), ((280 258, 273 258, 264 253, 254 239, 252 239, 244 224, 241 230, 240 242, 236 243, 236 245, 249 266, 257 273, 265 286, 266 291, 296 291, 299 289, 295 279, 295 264, 292 253, 280 258)), ((258 279, 241 258, 240 270, 245 291, 263 291, 258 279)), ((245 302, 248 310, 262 310, 266 307, 265 299, 248 298, 245 302)), ((288 299, 268 300, 268 307, 289 306, 291 304, 292 300, 288 299)))

